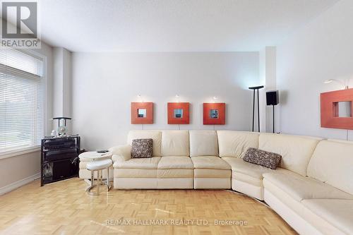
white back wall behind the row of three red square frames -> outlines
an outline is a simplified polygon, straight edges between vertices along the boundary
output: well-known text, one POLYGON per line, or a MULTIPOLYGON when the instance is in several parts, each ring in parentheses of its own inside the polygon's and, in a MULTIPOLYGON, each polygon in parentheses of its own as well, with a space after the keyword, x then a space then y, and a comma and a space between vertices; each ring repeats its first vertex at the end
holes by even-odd
POLYGON ((251 85, 258 85, 257 52, 185 53, 73 53, 73 131, 88 150, 126 143, 132 125, 130 103, 155 102, 154 124, 145 129, 177 129, 167 124, 167 102, 191 103, 189 125, 203 126, 202 103, 227 103, 225 126, 216 129, 251 129, 251 85))

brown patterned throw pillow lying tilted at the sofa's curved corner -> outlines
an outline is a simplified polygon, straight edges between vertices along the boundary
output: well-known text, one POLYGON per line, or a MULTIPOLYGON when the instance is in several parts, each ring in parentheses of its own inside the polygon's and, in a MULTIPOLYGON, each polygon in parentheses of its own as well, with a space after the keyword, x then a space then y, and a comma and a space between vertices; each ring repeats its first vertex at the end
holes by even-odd
POLYGON ((243 160, 270 169, 276 169, 280 164, 282 156, 274 152, 266 152, 257 148, 249 147, 243 160))

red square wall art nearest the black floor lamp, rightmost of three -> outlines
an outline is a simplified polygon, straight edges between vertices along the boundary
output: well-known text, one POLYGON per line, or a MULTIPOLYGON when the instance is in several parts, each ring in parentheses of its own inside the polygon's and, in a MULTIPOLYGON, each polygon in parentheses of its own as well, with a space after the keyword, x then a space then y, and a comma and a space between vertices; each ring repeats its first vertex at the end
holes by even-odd
POLYGON ((203 125, 225 125, 225 103, 203 103, 203 125))

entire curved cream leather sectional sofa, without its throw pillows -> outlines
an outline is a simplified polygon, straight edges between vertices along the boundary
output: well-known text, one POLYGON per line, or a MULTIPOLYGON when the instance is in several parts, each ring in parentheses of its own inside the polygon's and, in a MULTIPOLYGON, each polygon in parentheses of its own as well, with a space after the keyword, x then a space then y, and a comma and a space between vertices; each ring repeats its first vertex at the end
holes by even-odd
MULTIPOLYGON (((353 234, 353 143, 241 131, 130 131, 112 147, 114 188, 232 188, 265 200, 299 234, 353 234), (131 159, 152 138, 153 157, 131 159), (282 155, 268 169, 241 159, 249 147, 282 155)), ((80 163, 80 178, 90 175, 80 163)))

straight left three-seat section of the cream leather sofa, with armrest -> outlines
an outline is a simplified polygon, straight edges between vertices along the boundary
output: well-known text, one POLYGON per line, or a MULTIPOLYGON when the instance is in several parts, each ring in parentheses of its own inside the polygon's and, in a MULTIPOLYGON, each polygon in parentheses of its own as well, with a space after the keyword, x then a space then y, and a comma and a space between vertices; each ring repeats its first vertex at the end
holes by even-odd
POLYGON ((218 157, 215 131, 130 131, 128 145, 110 151, 114 188, 231 188, 231 167, 218 157), (152 138, 152 158, 131 159, 136 138, 152 138))

